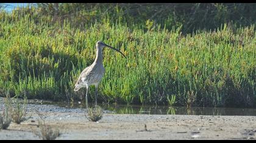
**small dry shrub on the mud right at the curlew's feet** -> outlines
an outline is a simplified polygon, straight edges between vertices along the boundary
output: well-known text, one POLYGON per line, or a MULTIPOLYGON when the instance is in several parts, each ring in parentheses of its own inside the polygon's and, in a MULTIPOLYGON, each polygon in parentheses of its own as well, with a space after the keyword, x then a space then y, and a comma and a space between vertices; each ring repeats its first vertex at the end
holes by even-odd
POLYGON ((95 108, 88 108, 87 119, 91 122, 97 122, 102 119, 103 111, 100 106, 96 106, 95 108))

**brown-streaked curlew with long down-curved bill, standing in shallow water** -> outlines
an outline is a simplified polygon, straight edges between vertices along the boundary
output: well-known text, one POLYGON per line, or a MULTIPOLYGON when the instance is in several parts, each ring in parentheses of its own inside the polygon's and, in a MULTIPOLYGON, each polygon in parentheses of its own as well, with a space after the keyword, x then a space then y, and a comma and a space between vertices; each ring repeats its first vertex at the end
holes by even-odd
MULTIPOLYGON (((95 85, 95 105, 97 105, 99 82, 101 82, 101 79, 105 73, 105 68, 102 64, 102 61, 103 61, 102 49, 104 47, 112 48, 113 50, 116 50, 117 52, 121 53, 124 56, 122 52, 120 52, 116 48, 111 47, 110 45, 105 44, 102 41, 98 41, 96 43, 96 58, 93 64, 91 64, 89 67, 85 68, 82 71, 74 88, 74 91, 78 91, 82 87, 87 88, 86 95, 85 95, 85 102, 87 107, 88 107, 87 93, 90 85, 95 85)), ((126 58, 126 56, 124 57, 126 58)))

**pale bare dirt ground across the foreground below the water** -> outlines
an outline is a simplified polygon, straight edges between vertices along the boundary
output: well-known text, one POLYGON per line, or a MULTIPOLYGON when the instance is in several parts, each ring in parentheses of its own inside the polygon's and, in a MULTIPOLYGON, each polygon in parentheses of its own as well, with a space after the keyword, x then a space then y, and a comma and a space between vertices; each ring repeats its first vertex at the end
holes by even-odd
MULTIPOLYGON (((116 115, 90 122, 83 112, 41 112, 59 128, 57 139, 255 139, 256 116, 116 115), (146 125, 146 127, 145 127, 146 125)), ((38 115, 0 131, 0 139, 40 139, 38 115)))

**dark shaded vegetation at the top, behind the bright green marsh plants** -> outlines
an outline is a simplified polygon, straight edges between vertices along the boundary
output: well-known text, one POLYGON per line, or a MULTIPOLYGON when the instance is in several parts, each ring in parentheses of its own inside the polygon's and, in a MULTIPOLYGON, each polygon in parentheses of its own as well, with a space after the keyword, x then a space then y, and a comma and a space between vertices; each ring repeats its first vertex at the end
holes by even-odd
POLYGON ((224 23, 239 27, 256 22, 256 4, 234 3, 38 4, 33 13, 53 24, 68 20, 72 27, 80 29, 95 22, 115 24, 117 21, 130 28, 171 30, 180 27, 182 33, 191 33, 219 28, 224 23))

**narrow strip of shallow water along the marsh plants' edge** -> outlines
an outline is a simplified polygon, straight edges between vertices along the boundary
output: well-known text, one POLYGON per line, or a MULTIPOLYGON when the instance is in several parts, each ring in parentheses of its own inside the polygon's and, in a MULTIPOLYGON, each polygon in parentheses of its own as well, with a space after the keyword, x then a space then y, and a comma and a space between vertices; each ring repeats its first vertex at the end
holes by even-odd
MULTIPOLYGON (((65 108, 85 108, 78 102, 41 102, 65 108)), ((102 105, 103 110, 116 114, 146 114, 146 115, 214 115, 214 116, 256 116, 256 108, 212 108, 212 107, 169 107, 150 105, 102 105)), ((92 104, 89 105, 93 107, 92 104)))

